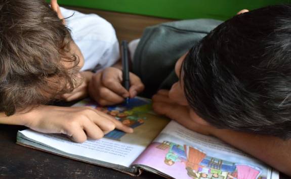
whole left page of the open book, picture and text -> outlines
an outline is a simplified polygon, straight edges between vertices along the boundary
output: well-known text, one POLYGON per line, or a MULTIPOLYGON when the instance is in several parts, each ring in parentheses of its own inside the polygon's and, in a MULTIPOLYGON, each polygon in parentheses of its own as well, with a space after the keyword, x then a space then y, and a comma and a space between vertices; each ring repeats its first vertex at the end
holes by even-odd
POLYGON ((132 134, 114 130, 100 140, 87 140, 82 144, 78 144, 72 142, 65 135, 43 134, 32 130, 24 130, 20 131, 20 133, 26 139, 28 138, 67 154, 129 167, 169 123, 167 118, 152 113, 151 101, 144 98, 130 100, 129 104, 110 107, 98 106, 93 101, 83 100, 75 106, 91 106, 113 115, 123 124, 134 128, 134 133, 132 134))

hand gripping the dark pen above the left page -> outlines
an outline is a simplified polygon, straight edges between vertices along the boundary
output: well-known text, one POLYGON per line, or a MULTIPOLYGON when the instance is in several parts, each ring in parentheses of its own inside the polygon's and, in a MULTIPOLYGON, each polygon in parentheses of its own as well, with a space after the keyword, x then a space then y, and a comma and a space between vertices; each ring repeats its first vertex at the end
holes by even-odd
POLYGON ((122 71, 109 67, 93 75, 89 83, 89 94, 100 105, 120 103, 126 97, 135 97, 144 89, 140 78, 133 73, 130 73, 130 83, 131 87, 127 91, 122 86, 122 71))

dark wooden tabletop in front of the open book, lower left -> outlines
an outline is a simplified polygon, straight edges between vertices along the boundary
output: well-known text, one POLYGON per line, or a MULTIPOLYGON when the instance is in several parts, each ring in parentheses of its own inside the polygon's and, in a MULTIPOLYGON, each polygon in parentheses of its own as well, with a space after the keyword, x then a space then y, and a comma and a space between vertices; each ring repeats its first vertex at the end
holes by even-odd
POLYGON ((130 176, 16 144, 20 126, 0 125, 0 178, 162 178, 150 172, 130 176))

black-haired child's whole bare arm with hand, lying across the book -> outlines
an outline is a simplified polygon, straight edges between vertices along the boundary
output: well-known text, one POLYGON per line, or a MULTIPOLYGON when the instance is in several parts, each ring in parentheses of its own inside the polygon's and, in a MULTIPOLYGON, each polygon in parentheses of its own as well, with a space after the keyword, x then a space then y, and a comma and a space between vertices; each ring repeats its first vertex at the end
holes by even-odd
POLYGON ((178 105, 161 93, 154 95, 153 108, 156 112, 172 118, 190 130, 220 138, 291 176, 291 140, 222 130, 211 125, 197 123, 198 120, 193 120, 193 118, 199 118, 199 116, 193 110, 190 110, 189 106, 178 105))

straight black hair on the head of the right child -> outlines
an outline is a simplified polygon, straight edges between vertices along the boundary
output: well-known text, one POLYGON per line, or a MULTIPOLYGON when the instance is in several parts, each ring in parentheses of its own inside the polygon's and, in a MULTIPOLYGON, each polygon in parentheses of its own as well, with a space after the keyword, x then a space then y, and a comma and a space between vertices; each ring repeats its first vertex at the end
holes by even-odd
POLYGON ((185 95, 221 129, 291 138, 291 6, 236 15, 183 63, 185 95))

